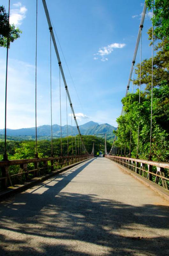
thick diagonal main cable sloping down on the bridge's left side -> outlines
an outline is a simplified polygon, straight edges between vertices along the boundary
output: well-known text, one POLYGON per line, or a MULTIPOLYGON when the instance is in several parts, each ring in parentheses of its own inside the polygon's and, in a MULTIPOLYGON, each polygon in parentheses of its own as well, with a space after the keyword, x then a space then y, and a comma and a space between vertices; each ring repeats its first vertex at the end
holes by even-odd
MULTIPOLYGON (((82 138, 82 135, 80 133, 80 129, 79 129, 79 126, 78 126, 78 123, 77 123, 76 115, 75 115, 75 112, 74 112, 74 109, 73 109, 73 106, 72 106, 72 102, 71 102, 71 99, 70 99, 70 94, 69 94, 69 91, 68 91, 68 86, 67 86, 67 83, 66 83, 64 72, 63 72, 63 69, 62 69, 62 64, 61 64, 61 60, 60 60, 60 57, 59 57, 59 52, 58 52, 58 49, 57 49, 57 45, 56 45, 56 41, 55 41, 55 36, 54 36, 54 33, 53 33, 53 29, 52 29, 52 25, 51 25, 49 13, 48 13, 48 8, 47 8, 47 5, 46 5, 46 1, 42 0, 42 2, 43 2, 44 10, 45 10, 45 13, 46 13, 46 17, 47 17, 50 34, 52 36, 52 40, 53 40, 53 44, 54 44, 54 48, 55 48, 55 53, 56 53, 56 56, 57 56, 58 64, 60 64, 62 79, 63 79, 63 83, 64 83, 64 86, 65 86, 65 89, 66 89, 66 92, 67 92, 67 96, 68 96, 68 99, 69 99, 69 102, 70 102, 71 111, 72 111, 73 117, 74 117, 75 122, 76 122, 77 130, 79 132, 81 140, 83 141, 83 138, 82 138)), ((86 152, 87 152, 87 150, 86 150, 86 152)), ((89 153, 87 152, 87 154, 89 154, 89 153)))

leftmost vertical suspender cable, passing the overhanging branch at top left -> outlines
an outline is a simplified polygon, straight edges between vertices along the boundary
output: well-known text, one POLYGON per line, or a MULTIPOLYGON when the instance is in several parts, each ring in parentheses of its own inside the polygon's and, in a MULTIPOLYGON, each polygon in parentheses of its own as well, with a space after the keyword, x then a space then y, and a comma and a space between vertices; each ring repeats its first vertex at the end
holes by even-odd
POLYGON ((7 36, 7 49, 6 49, 6 78, 5 78, 5 145, 4 145, 4 161, 8 160, 8 156, 6 153, 6 117, 7 117, 7 111, 6 111, 6 106, 7 106, 7 80, 8 80, 8 50, 9 50, 9 28, 10 28, 10 23, 9 23, 9 17, 10 17, 10 0, 8 2, 8 36, 7 36))

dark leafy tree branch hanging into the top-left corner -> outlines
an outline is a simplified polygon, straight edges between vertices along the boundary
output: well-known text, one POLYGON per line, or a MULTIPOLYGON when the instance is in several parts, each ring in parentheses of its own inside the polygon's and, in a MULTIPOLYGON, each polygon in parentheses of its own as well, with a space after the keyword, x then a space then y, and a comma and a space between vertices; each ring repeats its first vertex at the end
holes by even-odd
POLYGON ((0 46, 10 47, 10 43, 20 37, 22 31, 19 28, 15 28, 14 24, 9 24, 8 13, 4 6, 0 6, 0 46))

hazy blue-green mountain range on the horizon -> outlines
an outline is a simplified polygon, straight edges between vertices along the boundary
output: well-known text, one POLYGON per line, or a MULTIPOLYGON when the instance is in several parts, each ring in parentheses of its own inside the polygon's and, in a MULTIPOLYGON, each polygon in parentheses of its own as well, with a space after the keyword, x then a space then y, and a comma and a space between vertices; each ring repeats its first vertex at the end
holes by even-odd
MULTIPOLYGON (((93 121, 90 121, 86 124, 79 125, 79 129, 82 135, 100 135, 100 137, 103 137, 105 133, 107 135, 113 135, 113 130, 116 130, 117 128, 110 125, 110 124, 98 124, 93 121)), ((58 124, 52 125, 52 131, 54 137, 60 137, 60 131, 61 126, 58 124)), ((77 129, 75 129, 75 126, 68 125, 68 134, 71 135, 71 132, 73 135, 75 135, 75 132, 77 134, 77 129)), ((21 128, 21 129, 6 129, 7 136, 35 136, 35 127, 32 128, 21 128)), ((0 135, 4 135, 4 129, 0 129, 0 135)), ((37 136, 38 137, 48 137, 51 135, 51 126, 50 125, 41 125, 37 127, 37 136)), ((67 125, 62 126, 62 136, 67 136, 67 125)))

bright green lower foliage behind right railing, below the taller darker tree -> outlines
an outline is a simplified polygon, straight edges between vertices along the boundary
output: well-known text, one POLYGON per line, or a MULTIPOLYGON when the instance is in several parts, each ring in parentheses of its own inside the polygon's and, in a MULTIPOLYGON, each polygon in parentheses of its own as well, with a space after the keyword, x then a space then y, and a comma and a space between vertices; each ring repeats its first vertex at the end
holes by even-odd
MULTIPOLYGON (((168 161, 169 159, 169 87, 163 85, 153 89, 153 129, 152 155, 153 160, 168 161)), ((131 130, 131 156, 137 155, 137 133, 139 125, 139 157, 148 158, 150 150, 150 113, 151 97, 141 93, 141 104, 138 102, 139 92, 128 93, 122 99, 124 114, 117 119, 116 135, 118 146, 126 145, 129 149, 131 130)))

